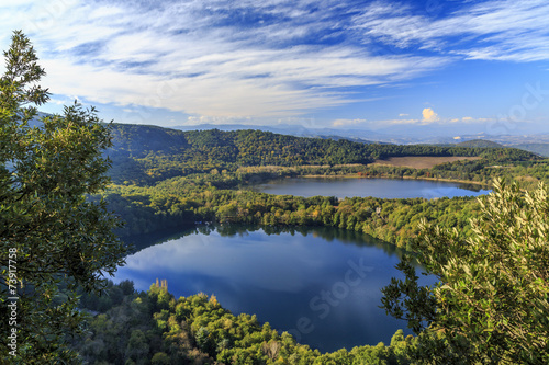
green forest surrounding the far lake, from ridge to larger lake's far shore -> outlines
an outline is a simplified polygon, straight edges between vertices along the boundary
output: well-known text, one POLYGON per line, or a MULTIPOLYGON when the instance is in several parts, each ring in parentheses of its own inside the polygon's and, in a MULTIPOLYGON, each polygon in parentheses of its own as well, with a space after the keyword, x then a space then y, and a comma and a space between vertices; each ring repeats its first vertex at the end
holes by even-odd
POLYGON ((526 187, 549 180, 547 162, 509 148, 359 144, 300 138, 259 130, 180 132, 114 125, 112 184, 104 193, 126 226, 121 235, 192 225, 239 221, 264 225, 327 225, 370 233, 405 247, 425 217, 444 227, 467 227, 473 198, 377 199, 270 196, 248 190, 271 179, 354 175, 471 181, 494 176, 523 180, 526 187), (432 169, 368 164, 400 156, 467 156, 432 169))

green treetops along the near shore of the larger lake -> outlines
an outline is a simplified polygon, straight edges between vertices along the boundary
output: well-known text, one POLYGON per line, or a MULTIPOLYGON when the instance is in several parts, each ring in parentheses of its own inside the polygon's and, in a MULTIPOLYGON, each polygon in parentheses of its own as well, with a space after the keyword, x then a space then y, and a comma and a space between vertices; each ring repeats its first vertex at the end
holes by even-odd
POLYGON ((90 364, 410 364, 405 349, 415 343, 399 330, 388 346, 321 354, 256 316, 231 313, 213 295, 176 299, 158 283, 137 293, 127 281, 111 282, 103 297, 81 295, 93 317, 85 337, 68 341, 90 364))

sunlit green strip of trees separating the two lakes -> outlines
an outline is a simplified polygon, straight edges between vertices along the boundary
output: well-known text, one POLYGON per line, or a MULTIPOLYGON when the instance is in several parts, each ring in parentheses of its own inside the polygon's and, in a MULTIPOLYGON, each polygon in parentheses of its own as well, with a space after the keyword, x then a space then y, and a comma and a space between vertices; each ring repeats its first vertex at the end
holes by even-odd
POLYGON ((245 172, 235 178, 229 174, 191 175, 167 180, 154 187, 113 186, 107 197, 110 208, 127 221, 122 231, 125 235, 145 233, 156 227, 191 226, 194 221, 333 226, 369 233, 404 248, 417 233, 416 226, 422 218, 469 232, 468 220, 479 209, 471 197, 338 201, 215 187, 237 187, 240 183, 265 181, 269 176, 273 175, 245 172))

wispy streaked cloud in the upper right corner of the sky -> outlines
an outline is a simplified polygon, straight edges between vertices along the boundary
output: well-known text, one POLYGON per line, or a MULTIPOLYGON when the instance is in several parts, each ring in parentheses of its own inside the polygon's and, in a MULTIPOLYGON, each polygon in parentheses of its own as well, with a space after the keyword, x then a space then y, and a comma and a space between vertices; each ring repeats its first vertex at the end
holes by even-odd
POLYGON ((427 5, 414 10, 374 2, 354 18, 354 26, 367 43, 373 38, 470 59, 534 61, 549 59, 548 19, 545 0, 466 3, 440 18, 427 5))

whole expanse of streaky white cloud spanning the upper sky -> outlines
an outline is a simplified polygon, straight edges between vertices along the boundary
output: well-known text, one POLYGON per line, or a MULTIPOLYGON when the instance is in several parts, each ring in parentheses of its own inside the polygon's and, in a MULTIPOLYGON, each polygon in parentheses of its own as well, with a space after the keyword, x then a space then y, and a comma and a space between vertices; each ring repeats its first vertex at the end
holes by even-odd
POLYGON ((9 32, 23 27, 54 93, 199 119, 299 117, 457 59, 549 59, 549 3, 541 0, 470 2, 445 16, 400 2, 340 0, 0 7, 2 48, 9 32))

